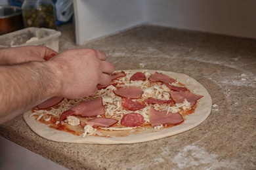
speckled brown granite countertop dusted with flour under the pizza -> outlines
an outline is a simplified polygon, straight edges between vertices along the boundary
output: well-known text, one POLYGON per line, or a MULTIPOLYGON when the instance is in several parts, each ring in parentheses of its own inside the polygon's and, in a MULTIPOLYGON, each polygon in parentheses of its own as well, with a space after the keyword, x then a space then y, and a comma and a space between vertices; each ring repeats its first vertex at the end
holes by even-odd
POLYGON ((74 26, 59 28, 60 50, 103 50, 116 69, 159 69, 192 76, 214 107, 200 126, 137 144, 47 141, 22 116, 0 135, 69 169, 256 169, 256 40, 141 26, 76 46, 74 26))

